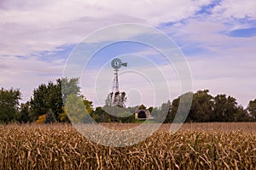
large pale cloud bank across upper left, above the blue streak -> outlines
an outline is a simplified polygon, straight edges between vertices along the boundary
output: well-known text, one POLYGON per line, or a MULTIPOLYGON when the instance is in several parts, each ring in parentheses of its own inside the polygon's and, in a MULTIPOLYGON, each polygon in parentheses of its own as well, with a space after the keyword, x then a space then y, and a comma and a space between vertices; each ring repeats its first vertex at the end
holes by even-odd
POLYGON ((5 1, 0 4, 0 54, 52 50, 79 42, 102 26, 123 22, 157 26, 182 20, 207 3, 210 1, 5 1))

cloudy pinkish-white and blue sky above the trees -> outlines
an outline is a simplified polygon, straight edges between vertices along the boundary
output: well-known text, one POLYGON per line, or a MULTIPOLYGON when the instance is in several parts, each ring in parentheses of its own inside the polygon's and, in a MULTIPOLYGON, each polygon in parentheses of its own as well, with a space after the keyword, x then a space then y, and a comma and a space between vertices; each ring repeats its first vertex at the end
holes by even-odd
MULTIPOLYGON (((2 0, 0 87, 20 88, 25 102, 39 84, 62 77, 84 38, 108 26, 134 23, 172 39, 189 65, 192 91, 209 89, 213 96, 231 95, 246 107, 256 98, 255 7, 254 0, 2 0)), ((103 43, 118 36, 118 31, 110 31, 94 40, 103 43)), ((163 54, 145 44, 119 42, 102 48, 84 64, 82 92, 95 106, 102 105, 111 90, 110 62, 115 57, 128 63, 119 71, 119 88, 127 92, 128 105, 159 105, 182 93, 178 73, 163 54), (151 73, 161 78, 154 79, 151 73), (154 85, 162 89, 163 99, 155 101, 154 85), (163 89, 170 95, 166 97, 163 89)))

